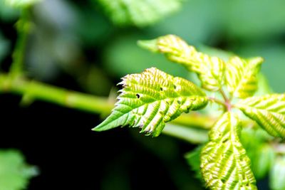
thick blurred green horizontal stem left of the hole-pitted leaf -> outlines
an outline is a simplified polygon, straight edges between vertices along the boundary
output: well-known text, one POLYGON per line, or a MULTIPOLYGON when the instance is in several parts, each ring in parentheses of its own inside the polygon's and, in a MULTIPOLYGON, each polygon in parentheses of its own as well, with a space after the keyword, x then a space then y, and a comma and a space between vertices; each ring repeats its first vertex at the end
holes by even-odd
POLYGON ((105 97, 86 95, 21 77, 14 78, 6 74, 0 75, 0 92, 16 93, 24 95, 26 100, 43 100, 97 114, 107 114, 113 108, 113 102, 105 97))

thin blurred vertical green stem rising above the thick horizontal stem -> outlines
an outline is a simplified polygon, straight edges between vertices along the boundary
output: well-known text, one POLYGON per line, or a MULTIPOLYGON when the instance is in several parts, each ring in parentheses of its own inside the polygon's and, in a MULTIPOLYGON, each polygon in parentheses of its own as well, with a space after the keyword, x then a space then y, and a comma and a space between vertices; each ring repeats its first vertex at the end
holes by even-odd
POLYGON ((16 47, 13 53, 13 62, 9 72, 13 76, 21 75, 24 67, 25 48, 28 40, 28 33, 31 28, 28 8, 21 10, 21 17, 16 23, 16 28, 18 31, 18 40, 16 41, 16 47))

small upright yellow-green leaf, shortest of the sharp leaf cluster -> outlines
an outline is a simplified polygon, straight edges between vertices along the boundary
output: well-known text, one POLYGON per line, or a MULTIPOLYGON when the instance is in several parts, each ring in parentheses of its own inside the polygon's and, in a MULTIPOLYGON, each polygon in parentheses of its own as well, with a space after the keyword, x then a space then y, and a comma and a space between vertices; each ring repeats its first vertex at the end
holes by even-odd
POLYGON ((229 59, 226 67, 227 89, 234 97, 249 97, 257 91, 257 73, 262 58, 244 60, 237 56, 229 59))

